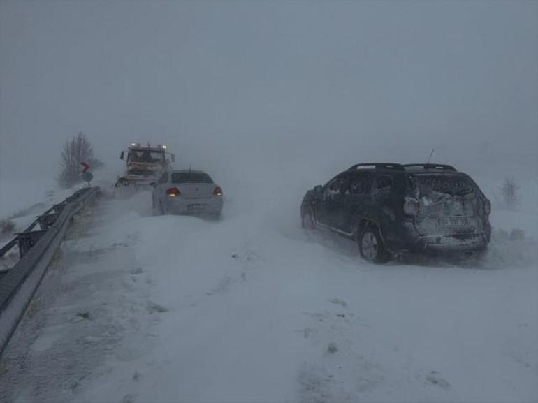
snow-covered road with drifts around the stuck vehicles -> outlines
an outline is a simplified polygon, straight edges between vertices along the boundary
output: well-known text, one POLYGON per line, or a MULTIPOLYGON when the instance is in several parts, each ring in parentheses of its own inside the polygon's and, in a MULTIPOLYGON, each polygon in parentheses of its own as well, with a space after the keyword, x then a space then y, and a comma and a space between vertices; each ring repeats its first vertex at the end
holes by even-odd
POLYGON ((0 401, 536 402, 535 244, 370 265, 275 193, 220 221, 103 198, 3 356, 0 401))

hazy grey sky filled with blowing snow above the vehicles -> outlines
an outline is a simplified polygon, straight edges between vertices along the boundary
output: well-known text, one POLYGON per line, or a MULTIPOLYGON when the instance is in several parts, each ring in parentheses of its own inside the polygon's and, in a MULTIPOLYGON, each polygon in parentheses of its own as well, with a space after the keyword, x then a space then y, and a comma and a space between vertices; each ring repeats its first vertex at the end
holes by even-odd
MULTIPOLYGON (((0 0, 0 181, 83 131, 221 175, 360 161, 537 176, 537 1, 0 0), (14 170, 13 166, 17 168, 14 170)), ((326 178, 328 179, 328 178, 326 178)))

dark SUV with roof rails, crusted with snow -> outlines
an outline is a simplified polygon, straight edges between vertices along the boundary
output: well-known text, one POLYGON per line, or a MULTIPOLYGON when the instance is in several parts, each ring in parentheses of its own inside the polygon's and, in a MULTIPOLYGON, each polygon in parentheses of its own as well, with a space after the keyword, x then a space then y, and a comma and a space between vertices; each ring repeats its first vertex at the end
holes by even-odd
POLYGON ((307 191, 304 228, 327 228, 383 262, 406 251, 480 251, 490 201, 469 175, 442 164, 359 163, 307 191))

